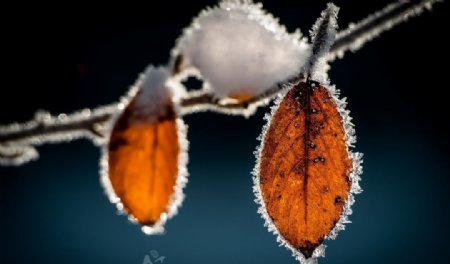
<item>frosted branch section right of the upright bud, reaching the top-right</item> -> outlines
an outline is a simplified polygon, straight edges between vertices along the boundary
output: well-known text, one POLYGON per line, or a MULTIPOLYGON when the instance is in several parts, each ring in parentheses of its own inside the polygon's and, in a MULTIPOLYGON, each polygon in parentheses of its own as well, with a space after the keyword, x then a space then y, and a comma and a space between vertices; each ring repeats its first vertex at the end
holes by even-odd
POLYGON ((342 58, 348 50, 355 52, 384 31, 406 22, 410 17, 430 10, 440 0, 403 0, 389 4, 382 10, 368 16, 358 23, 352 23, 346 30, 338 32, 331 47, 329 61, 342 58))

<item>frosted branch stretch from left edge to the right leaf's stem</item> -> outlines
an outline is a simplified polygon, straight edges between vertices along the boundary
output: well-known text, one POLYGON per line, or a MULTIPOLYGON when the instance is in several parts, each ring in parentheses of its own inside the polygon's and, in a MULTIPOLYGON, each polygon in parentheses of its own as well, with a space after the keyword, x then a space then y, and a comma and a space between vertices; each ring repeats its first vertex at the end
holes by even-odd
MULTIPOLYGON (((192 93, 180 102, 181 114, 199 111, 215 111, 249 116, 255 109, 267 104, 289 80, 277 84, 267 92, 247 101, 218 100, 210 93, 192 93)), ((35 117, 25 123, 0 126, 0 165, 21 165, 38 157, 35 146, 46 143, 69 142, 87 138, 95 144, 102 144, 107 136, 109 122, 123 109, 124 103, 113 103, 95 109, 84 109, 72 114, 51 115, 38 111, 35 117)))

